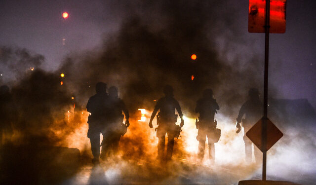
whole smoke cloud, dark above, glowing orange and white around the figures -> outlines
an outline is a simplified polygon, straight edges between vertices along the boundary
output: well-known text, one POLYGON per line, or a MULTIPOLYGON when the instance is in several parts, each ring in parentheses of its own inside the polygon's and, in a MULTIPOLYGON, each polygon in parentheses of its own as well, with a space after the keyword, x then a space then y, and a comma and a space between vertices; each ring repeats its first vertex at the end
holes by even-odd
MULTIPOLYGON (((154 100, 162 96, 163 86, 170 84, 187 117, 182 138, 175 142, 174 157, 195 164, 198 145, 195 104, 205 88, 212 88, 220 106, 217 121, 222 129, 221 140, 215 144, 214 168, 222 173, 225 173, 222 167, 230 169, 231 181, 258 176, 260 170, 253 173, 254 169, 260 169, 255 165, 242 172, 237 170, 243 168, 244 144, 242 134, 235 133, 235 122, 248 89, 263 90, 263 65, 260 62, 263 56, 243 40, 234 19, 234 9, 223 1, 186 0, 118 1, 111 6, 113 14, 125 12, 118 32, 107 35, 103 44, 94 50, 65 56, 55 72, 40 69, 44 60, 41 55, 30 54, 26 49, 1 47, 1 73, 8 75, 0 82, 12 86, 17 111, 12 121, 12 141, 79 148, 83 158, 91 157, 86 137, 85 105, 95 93, 95 84, 104 81, 108 86, 118 86, 119 96, 131 112, 131 125, 119 144, 121 161, 111 163, 109 168, 117 173, 108 170, 106 175, 128 176, 125 172, 128 168, 140 172, 137 165, 128 166, 126 161, 143 164, 155 160, 158 139, 148 122, 137 121, 137 110, 148 110, 148 120, 156 103, 154 100), (223 15, 223 10, 229 13, 223 15), (243 57, 234 52, 237 46, 236 51, 244 48, 246 54, 243 57), (195 61, 191 60, 192 54, 197 55, 195 61), (245 63, 249 65, 245 66, 245 63), (26 71, 31 67, 35 69, 26 71), (61 73, 65 77, 61 77, 61 73), (195 76, 193 80, 192 75, 195 76), (74 100, 71 97, 75 97, 74 100)), ((276 87, 269 88, 270 96, 279 95, 276 87)), ((302 176, 293 173, 300 171, 308 177, 316 174, 313 169, 316 161, 312 156, 316 150, 315 111, 308 102, 304 105, 311 111, 308 121, 300 120, 304 127, 294 124, 297 122, 293 119, 280 121, 289 114, 278 117, 277 111, 290 112, 285 109, 287 106, 277 107, 269 113, 272 121, 275 118, 276 125, 282 128, 284 138, 268 152, 268 176, 276 174, 276 178, 304 182, 302 176), (293 161, 302 166, 294 165, 293 161)), ((193 175, 188 179, 194 179, 194 175, 201 177, 193 182, 206 182, 209 180, 207 176, 214 174, 207 165, 190 167, 190 170, 193 175), (201 171, 204 172, 199 173, 201 171)), ((148 169, 143 174, 150 177, 153 171, 148 169)), ((182 171, 186 169, 176 166, 173 175, 182 171)), ((221 176, 224 175, 218 174, 219 179, 221 176)), ((163 177, 166 182, 171 178, 163 177)))

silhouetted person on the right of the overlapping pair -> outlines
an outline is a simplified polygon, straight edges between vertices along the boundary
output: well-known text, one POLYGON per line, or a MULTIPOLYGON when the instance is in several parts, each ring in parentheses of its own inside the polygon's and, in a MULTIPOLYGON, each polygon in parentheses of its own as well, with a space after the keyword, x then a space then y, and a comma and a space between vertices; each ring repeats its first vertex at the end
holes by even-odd
POLYGON ((106 101, 107 110, 107 125, 105 127, 105 137, 102 141, 102 153, 101 158, 106 159, 107 154, 113 150, 113 154, 118 152, 118 142, 122 135, 125 134, 127 127, 129 126, 129 113, 128 110, 120 98, 118 98, 118 88, 112 86, 109 88, 109 98, 106 101), (125 114, 125 124, 123 124, 125 114))

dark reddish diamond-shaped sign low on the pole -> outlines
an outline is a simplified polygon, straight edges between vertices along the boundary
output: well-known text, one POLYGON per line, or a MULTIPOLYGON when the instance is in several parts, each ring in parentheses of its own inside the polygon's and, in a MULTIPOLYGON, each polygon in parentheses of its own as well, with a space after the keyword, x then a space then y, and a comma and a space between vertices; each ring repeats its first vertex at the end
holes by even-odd
MULTIPOLYGON (((264 151, 263 147, 261 146, 261 128, 262 128, 262 119, 260 119, 255 125, 253 125, 246 136, 255 144, 261 151, 264 151)), ((276 142, 283 136, 283 133, 276 127, 270 119, 267 119, 267 145, 266 150, 268 151, 276 142)))

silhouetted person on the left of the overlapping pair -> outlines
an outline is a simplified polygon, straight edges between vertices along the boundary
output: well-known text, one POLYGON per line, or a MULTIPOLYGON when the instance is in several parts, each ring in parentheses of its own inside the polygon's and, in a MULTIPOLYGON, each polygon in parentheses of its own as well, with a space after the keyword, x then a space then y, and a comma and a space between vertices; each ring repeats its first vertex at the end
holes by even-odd
POLYGON ((95 86, 96 94, 89 98, 87 103, 87 111, 91 113, 88 117, 89 130, 88 138, 91 143, 91 150, 93 154, 92 162, 99 163, 100 156, 100 134, 103 133, 106 125, 106 107, 105 103, 108 99, 106 92, 107 85, 103 82, 98 82, 95 86))

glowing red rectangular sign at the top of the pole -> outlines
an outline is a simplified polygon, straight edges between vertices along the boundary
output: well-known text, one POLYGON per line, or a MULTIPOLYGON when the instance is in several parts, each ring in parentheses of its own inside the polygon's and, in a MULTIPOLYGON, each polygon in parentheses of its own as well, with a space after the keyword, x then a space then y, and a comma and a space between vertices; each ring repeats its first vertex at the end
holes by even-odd
MULTIPOLYGON (((248 32, 265 33, 266 0, 249 0, 248 32)), ((285 33, 286 0, 270 0, 270 33, 285 33)))

